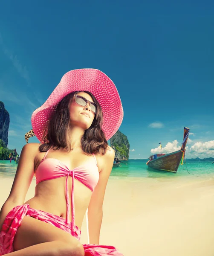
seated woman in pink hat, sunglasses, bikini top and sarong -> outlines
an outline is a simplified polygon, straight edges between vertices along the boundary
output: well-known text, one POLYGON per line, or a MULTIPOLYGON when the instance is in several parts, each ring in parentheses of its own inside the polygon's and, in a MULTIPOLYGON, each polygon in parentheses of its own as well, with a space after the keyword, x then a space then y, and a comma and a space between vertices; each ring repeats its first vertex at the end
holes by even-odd
POLYGON ((40 143, 26 144, 0 212, 0 255, 122 255, 99 245, 102 204, 113 166, 107 140, 123 119, 118 91, 99 70, 71 70, 32 114, 40 143), (24 203, 36 177, 35 196, 24 203), (87 210, 88 209, 88 210, 87 210), (90 244, 81 244, 88 212, 90 244), (70 221, 71 220, 71 221, 70 221))

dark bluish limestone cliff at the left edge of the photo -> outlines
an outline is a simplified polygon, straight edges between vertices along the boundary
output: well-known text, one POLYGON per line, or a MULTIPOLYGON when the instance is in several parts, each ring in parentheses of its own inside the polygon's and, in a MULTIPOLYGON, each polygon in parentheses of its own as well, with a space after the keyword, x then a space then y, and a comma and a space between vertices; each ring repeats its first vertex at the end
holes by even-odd
POLYGON ((4 103, 0 101, 0 140, 8 144, 8 130, 10 124, 10 115, 4 107, 4 103))

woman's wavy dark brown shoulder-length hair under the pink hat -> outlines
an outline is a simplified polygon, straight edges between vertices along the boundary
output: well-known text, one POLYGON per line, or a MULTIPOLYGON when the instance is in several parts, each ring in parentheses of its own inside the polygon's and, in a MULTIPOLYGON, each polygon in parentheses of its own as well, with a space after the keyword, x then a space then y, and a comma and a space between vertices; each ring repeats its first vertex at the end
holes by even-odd
MULTIPOLYGON (((54 146, 56 150, 59 148, 66 148, 67 151, 71 150, 71 140, 68 136, 70 125, 69 107, 74 99, 74 95, 79 92, 80 91, 69 93, 58 104, 46 127, 46 130, 48 131, 46 136, 44 136, 44 131, 43 140, 45 143, 39 146, 40 152, 47 151, 51 146, 54 146)), ((97 104, 97 111, 90 128, 84 131, 81 138, 82 150, 86 154, 101 153, 104 155, 107 151, 108 143, 105 134, 101 129, 103 112, 93 94, 88 91, 84 92, 88 93, 97 104)))

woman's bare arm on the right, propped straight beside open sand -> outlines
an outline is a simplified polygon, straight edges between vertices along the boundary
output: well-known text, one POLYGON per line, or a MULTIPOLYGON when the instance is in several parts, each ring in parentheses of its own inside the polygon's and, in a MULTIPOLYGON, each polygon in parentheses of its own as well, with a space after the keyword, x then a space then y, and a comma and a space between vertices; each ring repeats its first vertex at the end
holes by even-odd
POLYGON ((101 171, 99 173, 99 180, 97 186, 92 194, 90 204, 88 207, 88 222, 89 222, 89 242, 90 244, 99 244, 100 229, 103 217, 103 201, 106 190, 107 181, 109 179, 115 152, 109 146, 106 154, 101 157, 101 171))

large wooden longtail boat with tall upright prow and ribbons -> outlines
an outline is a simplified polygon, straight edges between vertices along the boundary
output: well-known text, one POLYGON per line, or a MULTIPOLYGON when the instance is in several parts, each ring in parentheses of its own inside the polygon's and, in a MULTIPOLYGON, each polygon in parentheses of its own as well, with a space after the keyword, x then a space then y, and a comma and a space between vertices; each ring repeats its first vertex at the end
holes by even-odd
MULTIPOLYGON (((170 154, 154 154, 149 157, 146 163, 152 169, 162 170, 167 172, 177 172, 181 159, 185 156, 185 147, 189 136, 189 128, 184 128, 184 140, 180 150, 170 154)), ((183 160, 183 159, 182 159, 183 160)))

